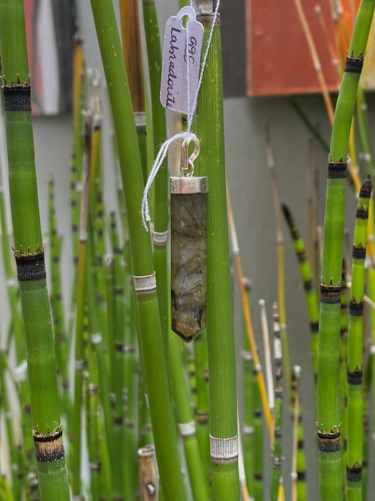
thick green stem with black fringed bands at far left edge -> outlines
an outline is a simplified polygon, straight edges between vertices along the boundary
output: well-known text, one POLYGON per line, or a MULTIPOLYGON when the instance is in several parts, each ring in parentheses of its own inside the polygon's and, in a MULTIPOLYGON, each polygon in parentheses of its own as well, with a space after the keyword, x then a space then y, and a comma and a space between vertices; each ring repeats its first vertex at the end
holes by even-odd
POLYGON ((23 2, 1 0, 0 46, 14 252, 41 501, 69 499, 40 230, 23 2))

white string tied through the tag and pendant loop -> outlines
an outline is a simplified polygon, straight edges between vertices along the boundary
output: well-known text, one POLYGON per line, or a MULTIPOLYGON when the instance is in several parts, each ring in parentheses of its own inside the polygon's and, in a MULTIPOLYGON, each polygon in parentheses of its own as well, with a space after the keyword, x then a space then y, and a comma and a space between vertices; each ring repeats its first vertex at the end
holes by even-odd
MULTIPOLYGON (((169 139, 167 139, 166 141, 164 141, 163 144, 160 146, 159 152, 157 153, 156 158, 152 164, 151 171, 149 173, 146 185, 144 186, 142 205, 141 205, 141 209, 140 209, 141 215, 142 215, 142 223, 143 223, 144 229, 146 231, 148 231, 147 221, 151 220, 151 217, 149 215, 149 207, 148 207, 148 191, 151 187, 151 184, 153 183, 153 180, 156 177, 156 174, 157 174, 159 168, 161 167, 161 165, 163 163, 163 160, 168 152, 169 146, 177 139, 185 139, 186 137, 191 137, 192 139, 196 138, 196 135, 193 132, 191 132, 191 124, 192 124, 192 120, 193 120, 195 110, 196 110, 198 94, 199 94, 200 86, 201 86, 202 80, 203 80, 203 72, 204 72, 206 62, 207 62, 208 51, 209 51, 209 47, 210 47, 211 41, 212 41, 213 29, 215 27, 219 5, 220 5, 220 0, 217 0, 216 7, 215 7, 215 10, 213 12, 212 24, 211 24, 211 29, 209 32, 209 37, 207 40, 207 46, 206 46, 205 51, 204 51, 202 64, 200 65, 199 80, 198 80, 196 92, 194 94, 194 100, 193 100, 193 106, 191 108, 191 113, 190 113, 190 69, 189 69, 189 39, 188 39, 188 27, 189 27, 190 18, 187 15, 188 16, 187 23, 186 23, 187 130, 186 130, 186 132, 179 132, 178 134, 175 134, 174 136, 172 136, 169 139)), ((192 0, 190 0, 190 6, 192 7, 192 0)))

